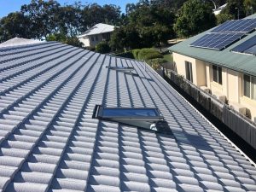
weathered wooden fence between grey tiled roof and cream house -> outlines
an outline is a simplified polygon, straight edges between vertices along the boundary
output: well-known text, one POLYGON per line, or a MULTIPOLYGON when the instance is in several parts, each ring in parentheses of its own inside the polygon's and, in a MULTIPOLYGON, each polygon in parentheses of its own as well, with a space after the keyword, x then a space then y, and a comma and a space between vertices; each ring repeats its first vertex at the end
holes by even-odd
POLYGON ((165 76, 256 149, 256 124, 251 119, 230 108, 229 105, 219 101, 206 91, 199 89, 176 72, 170 69, 165 70, 165 76))

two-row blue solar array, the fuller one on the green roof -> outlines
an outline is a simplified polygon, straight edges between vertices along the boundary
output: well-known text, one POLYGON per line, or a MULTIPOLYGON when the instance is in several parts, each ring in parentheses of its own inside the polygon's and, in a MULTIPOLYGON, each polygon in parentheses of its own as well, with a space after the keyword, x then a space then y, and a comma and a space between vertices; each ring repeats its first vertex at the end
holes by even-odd
MULTIPOLYGON (((237 40, 243 38, 247 32, 252 32, 255 29, 256 19, 228 20, 197 39, 190 46, 217 50, 225 49, 230 44, 234 44, 237 40)), ((250 51, 254 52, 255 49, 250 51)))

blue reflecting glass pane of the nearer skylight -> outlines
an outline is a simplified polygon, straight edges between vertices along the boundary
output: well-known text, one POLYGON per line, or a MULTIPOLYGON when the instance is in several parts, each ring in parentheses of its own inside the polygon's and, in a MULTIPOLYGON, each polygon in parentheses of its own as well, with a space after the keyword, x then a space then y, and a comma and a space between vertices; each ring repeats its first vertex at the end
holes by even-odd
POLYGON ((156 117, 159 113, 154 108, 104 108, 103 117, 156 117))

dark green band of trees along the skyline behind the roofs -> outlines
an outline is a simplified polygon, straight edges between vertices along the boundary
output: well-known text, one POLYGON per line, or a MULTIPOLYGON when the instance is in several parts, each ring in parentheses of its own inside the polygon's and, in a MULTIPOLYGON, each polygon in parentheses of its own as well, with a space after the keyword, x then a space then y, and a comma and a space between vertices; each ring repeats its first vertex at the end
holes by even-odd
MULTIPOLYGON (((57 0, 31 0, 20 11, 0 19, 0 43, 9 38, 55 39, 78 44, 76 38, 97 23, 118 26, 108 44, 113 50, 160 47, 168 39, 190 37, 216 23, 212 9, 225 0, 139 0, 128 3, 125 13, 113 4, 61 5, 57 0), (64 38, 65 37, 65 38, 64 38)), ((243 18, 256 10, 255 0, 227 0, 218 24, 243 18)))

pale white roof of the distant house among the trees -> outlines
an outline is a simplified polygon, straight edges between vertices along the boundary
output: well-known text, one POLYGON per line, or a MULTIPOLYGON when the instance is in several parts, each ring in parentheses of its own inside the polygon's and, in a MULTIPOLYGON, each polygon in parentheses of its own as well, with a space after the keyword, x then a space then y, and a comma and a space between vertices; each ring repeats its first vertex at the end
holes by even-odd
POLYGON ((113 30, 114 30, 114 26, 104 24, 104 23, 99 23, 96 26, 90 27, 90 29, 88 29, 86 32, 79 35, 79 38, 83 38, 90 35, 101 34, 105 32, 113 32, 113 30))

